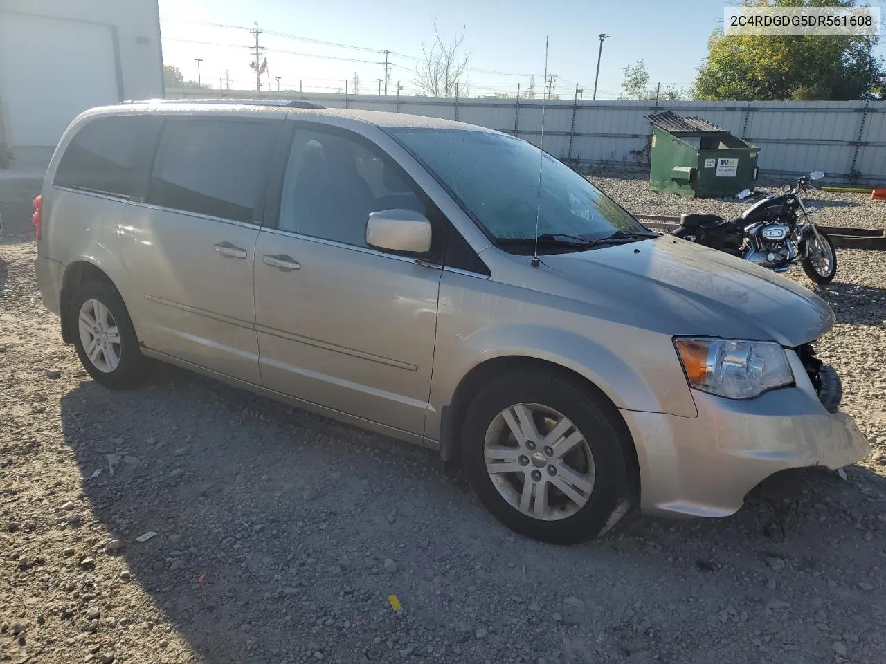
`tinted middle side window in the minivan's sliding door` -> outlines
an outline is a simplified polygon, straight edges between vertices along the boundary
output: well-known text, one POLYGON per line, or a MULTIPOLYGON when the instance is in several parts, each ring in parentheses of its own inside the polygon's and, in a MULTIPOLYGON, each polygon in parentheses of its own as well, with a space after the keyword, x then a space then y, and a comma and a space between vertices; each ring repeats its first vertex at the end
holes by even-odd
POLYGON ((167 118, 148 203, 253 221, 274 127, 236 120, 167 118))

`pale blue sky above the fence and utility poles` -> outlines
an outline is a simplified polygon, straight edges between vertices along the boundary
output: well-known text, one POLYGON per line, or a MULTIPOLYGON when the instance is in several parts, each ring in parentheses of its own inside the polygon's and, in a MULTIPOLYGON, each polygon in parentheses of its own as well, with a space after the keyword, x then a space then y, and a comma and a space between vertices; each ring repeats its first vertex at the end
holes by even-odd
MULTIPOLYGON (((354 73, 361 94, 377 94, 389 55, 388 94, 416 92, 416 58, 434 39, 436 20, 444 41, 464 33, 470 51, 470 96, 525 90, 534 75, 540 94, 548 36, 548 73, 555 94, 591 98, 598 35, 603 44, 597 98, 618 97, 623 70, 642 59, 649 83, 688 87, 707 53, 713 30, 723 24, 723 0, 159 0, 163 60, 185 80, 200 78, 219 89, 226 72, 230 89, 255 89, 249 63, 254 37, 263 30, 272 89, 344 91, 354 73), (227 26, 227 27, 223 27, 227 26), (284 36, 288 35, 288 36, 284 36), (298 37, 298 38, 295 38, 298 37), (333 46, 328 43, 339 44, 333 46)), ((732 4, 732 3, 730 3, 732 4)), ((267 81, 267 79, 264 79, 267 81)), ((384 83, 383 83, 384 85, 384 83)), ((383 88, 384 90, 384 88, 383 88)), ((463 94, 463 93, 462 93, 463 94)))

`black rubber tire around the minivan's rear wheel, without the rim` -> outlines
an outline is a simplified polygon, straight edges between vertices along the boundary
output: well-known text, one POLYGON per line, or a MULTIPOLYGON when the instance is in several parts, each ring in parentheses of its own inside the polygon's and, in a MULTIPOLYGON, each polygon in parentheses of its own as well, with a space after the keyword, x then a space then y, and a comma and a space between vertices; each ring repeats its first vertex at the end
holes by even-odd
POLYGON ((70 307, 68 320, 71 325, 71 336, 74 338, 74 348, 83 368, 92 376, 92 379, 113 390, 128 390, 144 385, 150 375, 151 363, 139 349, 136 330, 132 327, 132 320, 129 318, 120 293, 109 283, 85 282, 71 297, 68 306, 70 307), (83 304, 90 300, 96 300, 105 305, 111 320, 116 324, 120 333, 119 351, 117 352, 119 363, 113 367, 113 370, 102 370, 97 367, 89 359, 83 346, 79 325, 80 312, 83 304))

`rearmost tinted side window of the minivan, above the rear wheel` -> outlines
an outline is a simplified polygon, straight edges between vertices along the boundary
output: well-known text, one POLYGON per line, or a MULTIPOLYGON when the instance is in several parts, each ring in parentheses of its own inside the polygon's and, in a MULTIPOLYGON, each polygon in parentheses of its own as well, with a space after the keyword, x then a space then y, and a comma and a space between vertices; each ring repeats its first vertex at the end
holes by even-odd
POLYGON ((161 119, 151 115, 98 118, 74 135, 53 184, 144 200, 161 119))

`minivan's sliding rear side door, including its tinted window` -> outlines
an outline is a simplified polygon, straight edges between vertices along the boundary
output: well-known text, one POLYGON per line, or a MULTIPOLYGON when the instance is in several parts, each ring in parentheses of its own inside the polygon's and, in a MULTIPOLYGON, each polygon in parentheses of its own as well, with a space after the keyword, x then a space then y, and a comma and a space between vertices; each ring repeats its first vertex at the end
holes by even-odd
POLYGON ((147 205, 127 205, 123 262, 148 348, 260 384, 253 259, 279 124, 164 121, 147 205))

